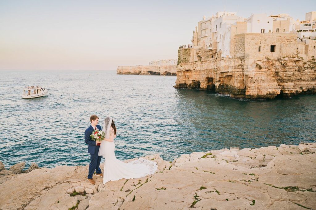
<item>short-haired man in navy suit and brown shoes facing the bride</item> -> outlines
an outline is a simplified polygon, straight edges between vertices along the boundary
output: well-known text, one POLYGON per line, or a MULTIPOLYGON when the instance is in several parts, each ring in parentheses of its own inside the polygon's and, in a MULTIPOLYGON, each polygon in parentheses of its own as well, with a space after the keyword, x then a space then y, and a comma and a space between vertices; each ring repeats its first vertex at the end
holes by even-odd
POLYGON ((95 184, 95 181, 92 178, 94 170, 96 171, 95 176, 103 177, 102 171, 100 169, 101 156, 98 155, 101 141, 92 141, 90 135, 95 129, 101 130, 101 126, 98 125, 99 117, 96 115, 91 115, 90 122, 91 125, 84 133, 84 141, 86 144, 88 144, 88 153, 90 153, 88 181, 91 184, 95 184))

